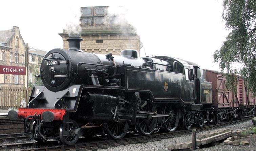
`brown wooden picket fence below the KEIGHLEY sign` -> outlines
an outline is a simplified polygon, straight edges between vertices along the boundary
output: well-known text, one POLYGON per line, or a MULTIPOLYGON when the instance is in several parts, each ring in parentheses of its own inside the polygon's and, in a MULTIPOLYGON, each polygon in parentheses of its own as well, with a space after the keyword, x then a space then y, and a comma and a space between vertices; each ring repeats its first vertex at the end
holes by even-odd
POLYGON ((24 98, 28 104, 33 87, 0 86, 0 109, 18 109, 24 98))

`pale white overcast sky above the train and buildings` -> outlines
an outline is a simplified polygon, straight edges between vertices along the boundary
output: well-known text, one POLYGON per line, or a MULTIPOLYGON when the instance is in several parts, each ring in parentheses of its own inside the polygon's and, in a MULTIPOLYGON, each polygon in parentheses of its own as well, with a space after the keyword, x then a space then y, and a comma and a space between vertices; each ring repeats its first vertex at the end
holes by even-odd
POLYGON ((58 33, 78 22, 80 7, 87 6, 110 6, 109 12, 125 14, 141 36, 142 57, 145 49, 147 56, 172 56, 218 70, 212 53, 229 33, 221 17, 222 0, 5 0, 0 30, 18 26, 29 46, 46 51, 63 48, 58 33))

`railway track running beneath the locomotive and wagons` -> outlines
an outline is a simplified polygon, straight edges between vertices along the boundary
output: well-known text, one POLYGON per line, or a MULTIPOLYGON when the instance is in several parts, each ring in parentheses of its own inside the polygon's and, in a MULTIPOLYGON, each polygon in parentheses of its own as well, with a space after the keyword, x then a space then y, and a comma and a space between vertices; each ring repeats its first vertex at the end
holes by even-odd
MULTIPOLYGON (((252 117, 251 117, 252 118, 252 117)), ((150 136, 141 136, 141 135, 137 135, 137 136, 129 136, 126 137, 124 139, 121 140, 111 140, 111 139, 96 139, 94 141, 85 141, 85 138, 80 138, 79 142, 76 145, 60 145, 58 144, 58 141, 53 140, 53 141, 47 141, 47 145, 46 144, 39 144, 35 141, 29 141, 29 142, 23 142, 23 143, 18 143, 18 138, 17 137, 22 137, 22 136, 17 136, 17 135, 29 135, 30 133, 19 133, 19 134, 6 134, 7 136, 10 136, 10 140, 11 141, 7 141, 6 138, 8 137, 2 137, 3 135, 0 135, 0 140, 1 139, 5 139, 6 143, 2 143, 0 145, 0 149, 1 150, 9 150, 9 149, 16 149, 19 151, 50 151, 50 150, 70 150, 70 149, 75 149, 75 150, 83 150, 83 149, 87 149, 87 150, 97 150, 97 148, 101 148, 101 149, 107 149, 109 146, 119 146, 119 145, 126 145, 126 144, 137 144, 137 143, 147 143, 147 142, 152 142, 152 141, 161 141, 163 139, 169 139, 175 136, 180 136, 180 135, 185 135, 185 134, 189 134, 191 133, 192 129, 197 129, 197 131, 199 130, 208 130, 208 129, 213 129, 213 128, 219 128, 222 126, 226 126, 226 125, 230 125, 230 124, 236 124, 239 122, 243 122, 243 121, 247 121, 250 120, 251 118, 248 119, 242 119, 242 120, 237 120, 237 121, 232 121, 231 123, 229 122, 224 122, 224 123, 220 123, 218 125, 206 125, 202 128, 191 128, 190 130, 177 130, 175 132, 171 132, 171 133, 166 133, 166 132, 161 132, 161 133, 156 133, 156 134, 152 134, 150 136), (13 140, 11 138, 14 138, 13 140), (15 139, 17 138, 17 140, 15 139), (10 142, 17 142, 17 143, 12 143, 10 144, 10 142), (25 149, 22 150, 23 148, 31 148, 31 149, 25 149)), ((24 137, 25 138, 25 137, 24 137)), ((27 139, 24 139, 27 140, 27 139)), ((92 139, 91 139, 92 140, 92 139)), ((4 141, 3 141, 4 142, 4 141)))

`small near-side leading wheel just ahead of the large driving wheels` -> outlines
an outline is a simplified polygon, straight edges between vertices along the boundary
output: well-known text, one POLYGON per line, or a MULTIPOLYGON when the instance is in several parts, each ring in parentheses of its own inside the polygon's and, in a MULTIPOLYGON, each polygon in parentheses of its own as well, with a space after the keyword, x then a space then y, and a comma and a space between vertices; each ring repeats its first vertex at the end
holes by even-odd
POLYGON ((66 145, 76 144, 79 138, 78 128, 79 126, 74 120, 63 122, 59 131, 61 143, 66 145))

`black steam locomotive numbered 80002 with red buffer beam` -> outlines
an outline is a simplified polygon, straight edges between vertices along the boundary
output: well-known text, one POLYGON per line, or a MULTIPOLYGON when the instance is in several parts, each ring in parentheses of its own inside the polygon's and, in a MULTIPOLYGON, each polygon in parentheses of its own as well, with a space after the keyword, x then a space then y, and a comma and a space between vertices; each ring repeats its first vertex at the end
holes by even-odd
POLYGON ((167 56, 140 58, 136 50, 120 56, 87 53, 81 38, 67 41, 69 50, 45 55, 44 86, 34 87, 28 108, 8 114, 23 117, 36 141, 72 145, 80 135, 95 134, 121 139, 130 130, 172 132, 180 121, 189 129, 214 118, 212 83, 198 65, 167 56))

